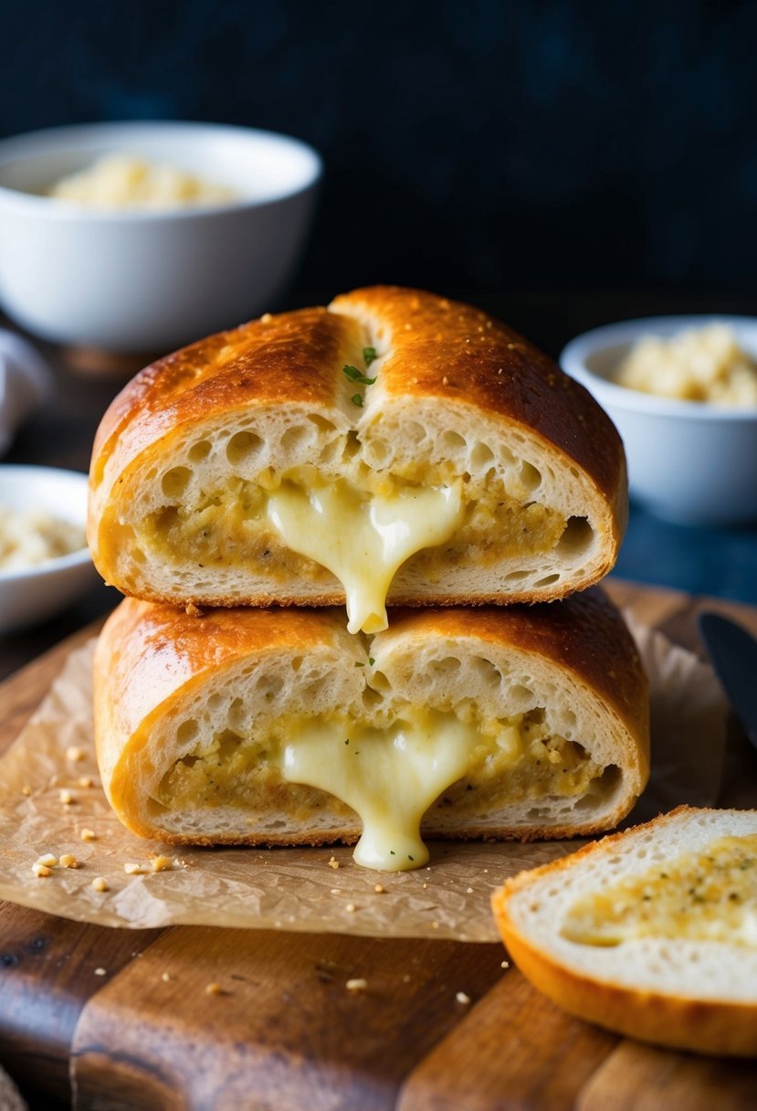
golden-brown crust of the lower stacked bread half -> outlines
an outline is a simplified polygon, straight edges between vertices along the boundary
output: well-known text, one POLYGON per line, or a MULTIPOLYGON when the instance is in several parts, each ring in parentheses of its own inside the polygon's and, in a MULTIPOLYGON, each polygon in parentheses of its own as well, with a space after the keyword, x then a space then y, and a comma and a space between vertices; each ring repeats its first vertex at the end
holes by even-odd
MULTIPOLYGON (((341 675, 344 698, 361 703, 370 652, 376 668, 394 659, 413 659, 423 645, 484 644, 493 659, 529 660, 532 672, 543 661, 549 674, 562 675, 567 687, 581 688, 604 707, 613 759, 623 769, 624 787, 612 811, 596 815, 579 812, 564 823, 538 819, 512 828, 493 828, 468 817, 455 824, 435 825, 434 837, 499 837, 533 840, 575 837, 614 824, 633 804, 648 775, 648 720, 646 679, 635 645, 612 603, 598 590, 556 605, 465 609, 397 610, 390 629, 369 648, 351 637, 339 610, 210 610, 202 617, 127 599, 107 622, 94 661, 95 740, 103 785, 121 818, 134 832, 166 841, 192 843, 317 844, 353 842, 360 825, 342 819, 325 831, 242 831, 192 835, 157 829, 145 820, 140 779, 152 740, 164 721, 194 697, 202 701, 234 668, 253 661, 265 665, 282 653, 317 659, 331 653, 330 667, 341 675), (359 664, 355 667, 354 664, 359 664), (609 675, 608 672, 609 671, 609 675), (613 744, 615 748, 613 748, 613 744)), ((373 663, 373 661, 370 661, 373 663)), ((401 660, 402 664, 402 660, 401 660)), ((403 664, 404 665, 404 664, 403 664)), ((397 672, 398 674, 398 672, 397 672)), ((412 682, 412 677, 411 677, 412 682)), ((586 695, 584 695, 586 697, 586 695)), ((418 694, 418 700, 422 693, 418 694)), ((161 742, 162 743, 162 742, 161 742)))

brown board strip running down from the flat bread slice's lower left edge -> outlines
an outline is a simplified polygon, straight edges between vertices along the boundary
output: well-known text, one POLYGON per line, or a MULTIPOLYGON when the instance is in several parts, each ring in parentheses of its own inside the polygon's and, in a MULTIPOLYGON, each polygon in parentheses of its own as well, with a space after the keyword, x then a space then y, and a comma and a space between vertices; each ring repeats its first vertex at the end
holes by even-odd
POLYGON ((411 1074, 397 1111, 564 1111, 617 1040, 511 969, 411 1074))

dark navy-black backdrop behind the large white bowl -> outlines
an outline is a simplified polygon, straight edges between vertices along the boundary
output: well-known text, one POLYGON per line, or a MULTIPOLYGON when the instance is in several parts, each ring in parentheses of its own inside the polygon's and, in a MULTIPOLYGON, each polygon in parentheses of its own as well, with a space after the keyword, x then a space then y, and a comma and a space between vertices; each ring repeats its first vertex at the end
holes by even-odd
POLYGON ((757 290, 755 3, 0 12, 0 134, 183 118, 312 142, 326 176, 303 290, 757 290))

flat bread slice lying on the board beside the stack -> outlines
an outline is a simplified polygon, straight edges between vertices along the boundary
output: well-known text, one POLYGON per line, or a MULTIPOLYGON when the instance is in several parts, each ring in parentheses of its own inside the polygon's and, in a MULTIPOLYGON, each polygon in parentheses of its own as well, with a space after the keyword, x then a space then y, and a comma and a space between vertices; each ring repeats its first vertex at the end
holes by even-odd
POLYGON ((642 1041, 757 1053, 757 811, 679 807, 522 872, 507 950, 565 1010, 642 1041))

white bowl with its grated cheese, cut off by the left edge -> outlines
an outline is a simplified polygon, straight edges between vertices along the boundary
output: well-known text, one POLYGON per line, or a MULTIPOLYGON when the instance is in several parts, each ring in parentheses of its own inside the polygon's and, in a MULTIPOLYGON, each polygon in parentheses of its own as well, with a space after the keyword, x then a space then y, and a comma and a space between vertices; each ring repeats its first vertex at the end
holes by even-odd
POLYGON ((0 466, 0 635, 52 617, 97 582, 87 476, 0 466))

